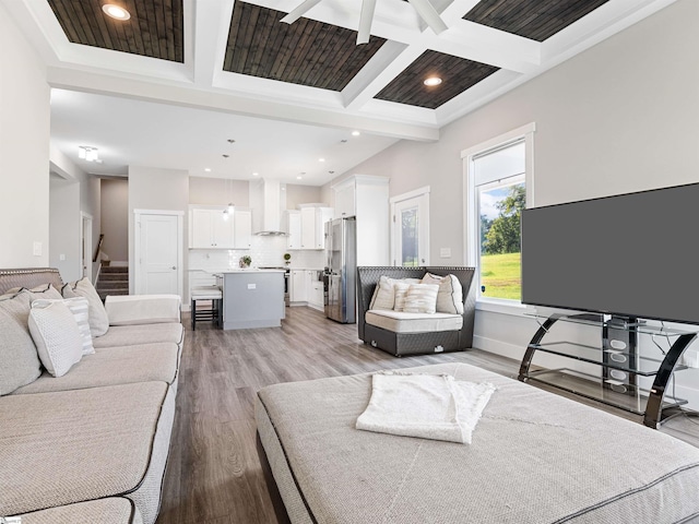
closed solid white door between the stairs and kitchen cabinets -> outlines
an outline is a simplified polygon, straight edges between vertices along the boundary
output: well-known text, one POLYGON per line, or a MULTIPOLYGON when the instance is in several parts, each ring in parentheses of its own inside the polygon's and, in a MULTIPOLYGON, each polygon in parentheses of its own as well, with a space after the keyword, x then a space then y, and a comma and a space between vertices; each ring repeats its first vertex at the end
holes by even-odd
POLYGON ((137 214, 135 293, 181 296, 181 215, 137 214))

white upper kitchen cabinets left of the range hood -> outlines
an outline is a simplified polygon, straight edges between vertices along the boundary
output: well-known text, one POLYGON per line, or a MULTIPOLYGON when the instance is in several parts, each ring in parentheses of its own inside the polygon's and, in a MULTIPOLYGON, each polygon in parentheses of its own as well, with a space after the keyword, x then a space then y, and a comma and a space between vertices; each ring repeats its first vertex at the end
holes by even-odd
POLYGON ((223 206, 191 206, 190 249, 250 249, 252 213, 236 209, 224 214, 223 206))

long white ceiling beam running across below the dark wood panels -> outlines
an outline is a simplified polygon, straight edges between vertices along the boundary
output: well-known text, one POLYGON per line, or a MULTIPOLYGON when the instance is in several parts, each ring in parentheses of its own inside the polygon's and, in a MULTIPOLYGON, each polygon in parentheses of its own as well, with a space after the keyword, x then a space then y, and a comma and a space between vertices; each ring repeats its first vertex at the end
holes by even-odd
MULTIPOLYGON (((122 96, 159 104, 196 107, 216 111, 246 115, 287 122, 325 126, 335 129, 359 129, 369 133, 396 139, 434 141, 439 139, 439 130, 431 124, 402 123, 364 116, 346 109, 323 109, 306 107, 293 103, 257 100, 250 96, 198 90, 193 86, 154 83, 125 76, 114 76, 95 72, 48 68, 47 81, 51 87, 82 91, 111 96, 122 96)), ((273 81, 270 81, 273 82, 273 81)))

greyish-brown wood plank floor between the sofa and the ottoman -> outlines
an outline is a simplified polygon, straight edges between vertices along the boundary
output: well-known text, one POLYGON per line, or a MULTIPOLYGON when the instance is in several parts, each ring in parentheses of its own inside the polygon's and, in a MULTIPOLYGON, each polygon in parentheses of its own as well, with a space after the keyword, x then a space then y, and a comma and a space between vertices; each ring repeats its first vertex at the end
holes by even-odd
MULTIPOLYGON (((339 324, 305 307, 286 311, 281 329, 221 331, 201 323, 192 332, 185 319, 157 524, 276 523, 254 440, 254 395, 264 385, 451 361, 511 378, 519 371, 519 361, 477 349, 395 358, 363 344, 356 324, 339 324)), ((671 431, 698 445, 696 424, 679 420, 671 431)))

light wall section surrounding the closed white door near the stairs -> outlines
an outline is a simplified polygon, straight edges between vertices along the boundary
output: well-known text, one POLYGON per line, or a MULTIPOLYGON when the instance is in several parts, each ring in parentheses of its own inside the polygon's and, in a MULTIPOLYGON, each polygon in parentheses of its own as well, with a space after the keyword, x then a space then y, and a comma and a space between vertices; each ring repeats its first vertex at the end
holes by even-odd
POLYGON ((182 289, 188 288, 187 231, 189 206, 189 172, 181 169, 129 166, 129 293, 134 293, 134 210, 181 211, 182 226, 182 289))

